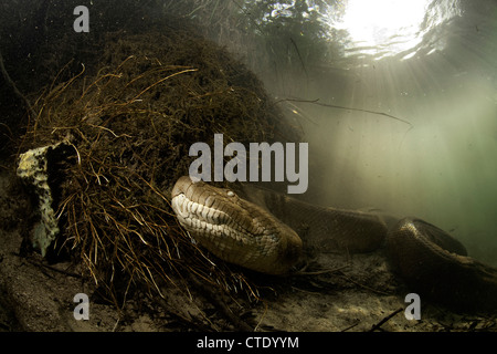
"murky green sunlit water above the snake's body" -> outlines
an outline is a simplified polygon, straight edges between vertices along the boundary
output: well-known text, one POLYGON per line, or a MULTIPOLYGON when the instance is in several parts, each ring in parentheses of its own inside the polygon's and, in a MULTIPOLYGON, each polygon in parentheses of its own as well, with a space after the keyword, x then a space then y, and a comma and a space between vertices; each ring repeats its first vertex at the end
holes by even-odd
POLYGON ((497 264, 496 2, 215 3, 189 13, 276 96, 409 122, 282 103, 309 142, 309 195, 421 217, 497 264))

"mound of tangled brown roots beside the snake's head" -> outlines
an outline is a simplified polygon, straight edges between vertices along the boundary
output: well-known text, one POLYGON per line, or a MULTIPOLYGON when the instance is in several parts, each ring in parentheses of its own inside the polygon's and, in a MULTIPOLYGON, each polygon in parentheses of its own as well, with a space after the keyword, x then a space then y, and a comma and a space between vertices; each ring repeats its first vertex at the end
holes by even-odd
POLYGON ((36 229, 42 253, 57 235, 57 247, 76 254, 114 302, 137 283, 159 294, 172 283, 189 294, 186 274, 257 298, 243 272, 191 242, 170 189, 188 173, 195 142, 212 144, 216 133, 243 144, 295 142, 298 134, 255 75, 202 38, 109 34, 104 45, 99 70, 52 83, 36 100, 23 137, 22 150, 41 153, 71 136, 73 154, 57 162, 64 178, 52 190, 59 226, 36 229))

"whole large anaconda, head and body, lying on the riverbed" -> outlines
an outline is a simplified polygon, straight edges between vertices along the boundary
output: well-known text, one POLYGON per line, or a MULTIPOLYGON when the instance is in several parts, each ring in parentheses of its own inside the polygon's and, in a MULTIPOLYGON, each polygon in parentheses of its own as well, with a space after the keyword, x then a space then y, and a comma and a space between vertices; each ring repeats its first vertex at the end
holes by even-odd
POLYGON ((385 249, 413 292, 462 310, 497 310, 497 269, 466 253, 445 231, 416 218, 315 206, 243 185, 236 191, 181 177, 171 206, 201 246, 231 263, 285 274, 306 248, 350 253, 385 249), (304 242, 303 242, 304 239, 304 242))

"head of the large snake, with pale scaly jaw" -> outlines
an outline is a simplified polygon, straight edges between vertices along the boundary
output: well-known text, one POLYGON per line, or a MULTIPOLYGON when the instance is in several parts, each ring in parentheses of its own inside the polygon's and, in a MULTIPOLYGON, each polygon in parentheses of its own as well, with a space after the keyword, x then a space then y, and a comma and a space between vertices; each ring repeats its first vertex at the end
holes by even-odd
POLYGON ((172 188, 171 207, 195 241, 228 262, 284 274, 300 258, 294 230, 231 189, 183 176, 172 188))

